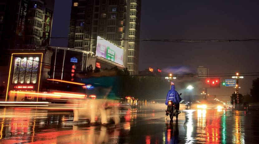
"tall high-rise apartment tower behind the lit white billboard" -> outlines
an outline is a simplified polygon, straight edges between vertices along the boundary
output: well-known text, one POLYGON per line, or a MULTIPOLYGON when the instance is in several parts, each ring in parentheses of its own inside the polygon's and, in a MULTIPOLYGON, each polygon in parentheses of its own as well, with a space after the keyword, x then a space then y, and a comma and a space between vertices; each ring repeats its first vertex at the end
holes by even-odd
POLYGON ((72 0, 68 47, 96 52, 97 36, 124 49, 123 65, 138 73, 141 0, 72 0))

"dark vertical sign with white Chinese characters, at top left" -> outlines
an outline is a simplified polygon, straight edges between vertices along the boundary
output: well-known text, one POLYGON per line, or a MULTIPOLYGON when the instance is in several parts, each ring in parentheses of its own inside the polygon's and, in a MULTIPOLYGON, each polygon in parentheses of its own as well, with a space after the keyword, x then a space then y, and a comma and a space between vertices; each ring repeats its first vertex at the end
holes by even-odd
POLYGON ((29 0, 21 0, 18 24, 16 29, 17 36, 25 36, 27 13, 29 11, 29 0))

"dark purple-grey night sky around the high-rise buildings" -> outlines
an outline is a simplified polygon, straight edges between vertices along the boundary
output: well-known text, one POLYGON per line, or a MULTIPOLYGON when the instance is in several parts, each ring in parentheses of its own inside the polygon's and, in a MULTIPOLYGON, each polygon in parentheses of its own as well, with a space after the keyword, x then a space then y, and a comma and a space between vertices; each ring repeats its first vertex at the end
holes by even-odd
MULTIPOLYGON (((142 0, 141 39, 255 39, 259 38, 258 0, 142 0)), ((55 0, 52 37, 68 37, 71 0, 55 0)), ((51 46, 67 46, 52 39, 51 46)), ((148 67, 203 65, 210 74, 259 72, 259 43, 140 43, 140 70, 148 67)), ((249 93, 252 79, 245 77, 240 93, 249 93)), ((226 77, 222 78, 225 79, 226 77)), ((229 77, 227 77, 229 78, 229 77)), ((231 94, 233 88, 209 91, 231 94)), ((223 98, 225 99, 225 98, 223 98)), ((228 99, 228 98, 226 98, 228 99)))

